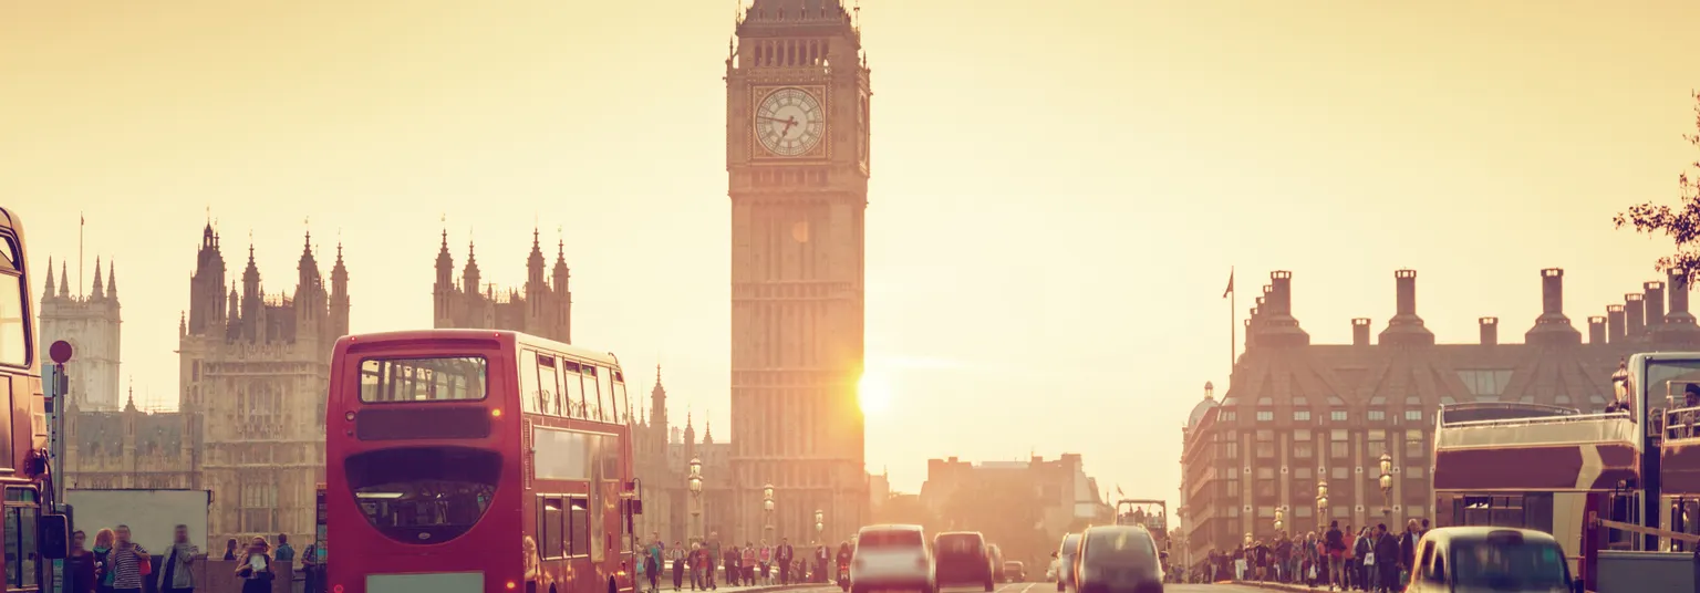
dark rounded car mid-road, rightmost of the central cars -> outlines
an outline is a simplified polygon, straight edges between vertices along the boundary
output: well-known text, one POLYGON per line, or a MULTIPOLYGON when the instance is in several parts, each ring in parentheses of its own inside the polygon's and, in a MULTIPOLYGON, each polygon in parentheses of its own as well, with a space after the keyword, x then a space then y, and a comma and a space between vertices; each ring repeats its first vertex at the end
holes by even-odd
POLYGON ((1074 559, 1080 593, 1163 593, 1158 544, 1144 527, 1090 527, 1074 559))

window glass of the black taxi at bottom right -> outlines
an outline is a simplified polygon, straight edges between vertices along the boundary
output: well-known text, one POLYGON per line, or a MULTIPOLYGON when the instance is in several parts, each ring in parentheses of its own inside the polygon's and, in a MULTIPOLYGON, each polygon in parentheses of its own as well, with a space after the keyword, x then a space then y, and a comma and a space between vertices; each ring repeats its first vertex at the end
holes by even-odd
POLYGON ((1564 551, 1552 542, 1455 540, 1452 544, 1455 586, 1491 591, 1567 588, 1564 551))

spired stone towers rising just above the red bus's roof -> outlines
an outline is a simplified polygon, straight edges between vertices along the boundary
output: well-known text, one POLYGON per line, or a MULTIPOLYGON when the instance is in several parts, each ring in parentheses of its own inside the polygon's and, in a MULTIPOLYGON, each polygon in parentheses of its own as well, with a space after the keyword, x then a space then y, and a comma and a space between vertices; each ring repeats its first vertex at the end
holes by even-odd
POLYGON ((449 255, 449 231, 442 233, 442 250, 437 251, 437 284, 432 287, 432 318, 435 328, 508 330, 573 343, 573 292, 568 289, 566 243, 556 251, 554 268, 544 279, 542 245, 532 229, 532 251, 525 260, 525 287, 498 289, 481 284, 478 258, 471 243, 466 246, 466 268, 461 280, 454 279, 454 257, 449 255))

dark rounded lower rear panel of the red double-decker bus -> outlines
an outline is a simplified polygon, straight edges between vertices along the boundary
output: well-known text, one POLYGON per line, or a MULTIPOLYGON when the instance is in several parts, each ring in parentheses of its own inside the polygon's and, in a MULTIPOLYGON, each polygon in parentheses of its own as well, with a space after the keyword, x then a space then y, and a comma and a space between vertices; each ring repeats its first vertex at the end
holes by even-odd
POLYGON ((350 455, 343 467, 372 527, 403 544, 442 544, 484 517, 502 455, 461 447, 382 449, 350 455))

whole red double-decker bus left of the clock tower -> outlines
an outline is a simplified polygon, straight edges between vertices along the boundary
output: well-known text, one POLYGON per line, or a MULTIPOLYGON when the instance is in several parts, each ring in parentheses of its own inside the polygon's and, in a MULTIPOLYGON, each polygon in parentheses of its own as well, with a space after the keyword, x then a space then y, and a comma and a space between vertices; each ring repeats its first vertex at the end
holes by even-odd
POLYGON ((643 503, 612 353, 425 330, 345 336, 330 372, 332 593, 631 590, 643 503))

